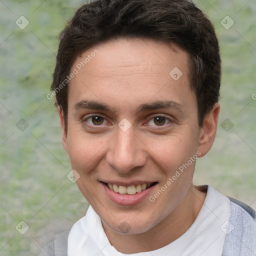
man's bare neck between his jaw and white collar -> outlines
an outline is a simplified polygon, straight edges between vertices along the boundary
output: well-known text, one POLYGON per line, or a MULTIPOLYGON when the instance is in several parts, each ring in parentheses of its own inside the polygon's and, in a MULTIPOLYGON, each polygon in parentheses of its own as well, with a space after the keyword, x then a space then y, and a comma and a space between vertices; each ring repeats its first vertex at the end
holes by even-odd
POLYGON ((197 217, 206 193, 194 188, 191 183, 186 194, 175 209, 160 223, 144 233, 120 234, 102 222, 112 246, 122 253, 138 253, 161 248, 180 237, 197 217))

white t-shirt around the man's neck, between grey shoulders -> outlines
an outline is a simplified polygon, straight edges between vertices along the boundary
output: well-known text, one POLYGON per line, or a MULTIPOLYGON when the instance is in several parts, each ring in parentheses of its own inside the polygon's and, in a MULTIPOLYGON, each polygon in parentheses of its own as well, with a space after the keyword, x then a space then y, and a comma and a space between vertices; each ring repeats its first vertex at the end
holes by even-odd
POLYGON ((230 215, 229 199, 208 185, 204 204, 193 224, 173 242, 156 250, 124 254, 110 244, 91 206, 68 235, 68 256, 221 256, 230 215))

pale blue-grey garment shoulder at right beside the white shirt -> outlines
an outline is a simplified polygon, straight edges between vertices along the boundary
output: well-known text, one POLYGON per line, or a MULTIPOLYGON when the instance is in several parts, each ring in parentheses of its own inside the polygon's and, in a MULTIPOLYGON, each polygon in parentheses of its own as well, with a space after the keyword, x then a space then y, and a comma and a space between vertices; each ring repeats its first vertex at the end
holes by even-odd
POLYGON ((226 226, 223 256, 249 256, 256 252, 255 210, 249 205, 228 197, 230 217, 226 226))

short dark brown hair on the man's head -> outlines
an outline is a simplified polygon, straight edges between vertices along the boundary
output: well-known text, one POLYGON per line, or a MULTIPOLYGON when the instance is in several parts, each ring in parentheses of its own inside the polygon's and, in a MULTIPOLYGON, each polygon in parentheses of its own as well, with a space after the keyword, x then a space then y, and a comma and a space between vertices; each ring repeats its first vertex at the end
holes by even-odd
POLYGON ((63 111, 65 129, 68 81, 58 86, 79 54, 120 37, 173 42, 186 50, 201 126, 218 101, 221 75, 218 40, 205 14, 189 0, 91 0, 76 10, 60 34, 51 90, 63 111))

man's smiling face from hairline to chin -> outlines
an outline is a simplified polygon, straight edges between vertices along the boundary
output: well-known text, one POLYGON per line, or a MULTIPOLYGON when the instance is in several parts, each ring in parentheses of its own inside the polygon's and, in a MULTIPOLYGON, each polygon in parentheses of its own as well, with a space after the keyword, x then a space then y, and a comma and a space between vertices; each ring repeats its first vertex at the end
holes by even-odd
POLYGON ((145 232, 180 205, 192 183, 191 158, 208 151, 188 55, 175 44, 140 39, 95 48, 71 68, 78 72, 69 83, 67 133, 59 110, 63 145, 80 191, 102 221, 116 232, 123 225, 145 232))

